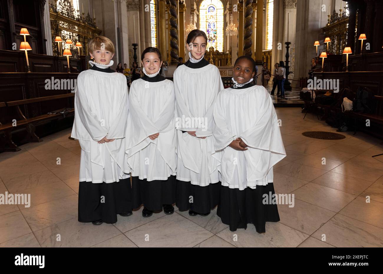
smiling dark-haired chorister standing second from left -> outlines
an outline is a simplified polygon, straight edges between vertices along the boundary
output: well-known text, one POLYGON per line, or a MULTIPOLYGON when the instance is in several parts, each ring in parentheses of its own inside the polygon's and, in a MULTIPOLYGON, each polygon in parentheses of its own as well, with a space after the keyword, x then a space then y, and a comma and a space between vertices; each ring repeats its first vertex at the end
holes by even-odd
POLYGON ((160 51, 142 52, 144 76, 132 82, 126 132, 126 168, 131 170, 133 208, 144 205, 143 217, 175 203, 176 135, 173 83, 159 74, 160 51))

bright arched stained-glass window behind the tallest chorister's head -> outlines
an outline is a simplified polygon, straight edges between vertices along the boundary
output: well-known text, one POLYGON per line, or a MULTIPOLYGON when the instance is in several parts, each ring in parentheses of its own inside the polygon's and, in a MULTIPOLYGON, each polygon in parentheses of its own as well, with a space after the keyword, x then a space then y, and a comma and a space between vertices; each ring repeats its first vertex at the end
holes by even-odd
POLYGON ((209 47, 223 52, 223 4, 220 0, 203 0, 200 5, 200 28, 208 36, 209 47))

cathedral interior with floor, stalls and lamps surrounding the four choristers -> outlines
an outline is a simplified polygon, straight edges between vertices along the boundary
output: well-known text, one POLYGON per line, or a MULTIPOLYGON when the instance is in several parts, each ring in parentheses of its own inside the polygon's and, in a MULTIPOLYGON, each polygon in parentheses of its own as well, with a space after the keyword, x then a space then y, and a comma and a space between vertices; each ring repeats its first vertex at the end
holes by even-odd
POLYGON ((381 0, 0 0, 0 193, 31 194, 28 208, 0 204, 0 247, 383 247, 381 14, 381 0), (256 84, 282 120, 287 156, 274 166, 275 191, 294 193, 295 207, 278 205, 280 222, 265 235, 237 231, 238 241, 214 210, 133 213, 91 230, 77 221, 81 148, 70 138, 71 83, 90 69, 88 43, 113 42, 113 70, 141 66, 142 51, 157 47, 173 80, 193 29, 206 33, 204 58, 225 88, 237 57, 255 60, 256 84), (281 61, 283 98, 273 88, 281 61), (68 86, 47 88, 54 79, 68 86), (345 109, 360 94, 364 110, 345 109))

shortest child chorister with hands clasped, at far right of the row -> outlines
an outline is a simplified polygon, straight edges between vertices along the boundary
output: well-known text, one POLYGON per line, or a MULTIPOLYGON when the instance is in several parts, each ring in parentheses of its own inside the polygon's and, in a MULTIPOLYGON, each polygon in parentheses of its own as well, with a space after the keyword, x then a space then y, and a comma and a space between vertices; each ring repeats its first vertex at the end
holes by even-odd
POLYGON ((222 175, 217 215, 231 231, 252 223, 263 233, 265 222, 279 221, 277 205, 265 201, 275 194, 273 165, 286 152, 272 99, 252 81, 254 68, 251 57, 239 57, 234 86, 221 91, 214 104, 213 139, 221 152, 222 175))

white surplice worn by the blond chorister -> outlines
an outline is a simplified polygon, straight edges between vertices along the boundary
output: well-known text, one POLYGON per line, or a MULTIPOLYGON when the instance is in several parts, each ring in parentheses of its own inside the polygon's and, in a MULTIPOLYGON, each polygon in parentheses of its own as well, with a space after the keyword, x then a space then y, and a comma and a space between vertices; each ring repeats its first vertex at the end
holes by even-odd
POLYGON ((128 86, 121 73, 85 70, 77 77, 72 138, 81 146, 80 181, 113 183, 123 173, 128 86), (112 142, 98 144, 103 139, 112 142))

